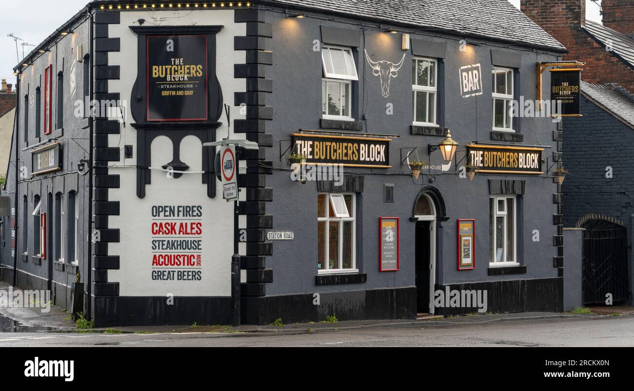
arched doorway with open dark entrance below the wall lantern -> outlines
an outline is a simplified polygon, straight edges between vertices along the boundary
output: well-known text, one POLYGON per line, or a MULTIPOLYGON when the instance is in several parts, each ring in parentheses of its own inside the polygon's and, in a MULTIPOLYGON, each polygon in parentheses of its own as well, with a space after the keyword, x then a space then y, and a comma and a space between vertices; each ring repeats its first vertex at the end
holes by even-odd
POLYGON ((418 193, 412 220, 415 229, 415 280, 418 314, 434 314, 438 221, 446 221, 444 201, 439 191, 428 186, 418 193))

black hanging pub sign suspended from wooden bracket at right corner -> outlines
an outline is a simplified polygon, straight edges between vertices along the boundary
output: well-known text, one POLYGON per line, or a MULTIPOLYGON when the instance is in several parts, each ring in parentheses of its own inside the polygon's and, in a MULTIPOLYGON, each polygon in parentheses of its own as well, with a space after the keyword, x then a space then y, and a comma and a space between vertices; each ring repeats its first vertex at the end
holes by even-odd
POLYGON ((550 99, 561 102, 561 112, 553 107, 553 115, 578 117, 581 115, 581 69, 551 69, 550 99))

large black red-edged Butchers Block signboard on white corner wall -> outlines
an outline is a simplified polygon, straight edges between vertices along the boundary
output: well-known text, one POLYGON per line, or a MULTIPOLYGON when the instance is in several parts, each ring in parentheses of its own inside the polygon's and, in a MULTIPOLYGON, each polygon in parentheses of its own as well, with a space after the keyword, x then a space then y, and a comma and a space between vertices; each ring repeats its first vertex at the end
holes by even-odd
POLYGON ((148 35, 146 39, 148 121, 207 120, 207 35, 148 35))

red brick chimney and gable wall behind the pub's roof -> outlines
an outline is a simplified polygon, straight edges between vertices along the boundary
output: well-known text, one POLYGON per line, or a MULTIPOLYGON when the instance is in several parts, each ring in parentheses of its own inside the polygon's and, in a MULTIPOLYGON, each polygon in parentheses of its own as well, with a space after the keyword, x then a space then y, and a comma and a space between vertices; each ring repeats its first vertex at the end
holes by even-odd
POLYGON ((564 60, 586 63, 583 80, 617 83, 634 93, 634 70, 580 30, 585 23, 585 0, 521 0, 521 8, 533 22, 566 46, 570 53, 564 55, 564 60))

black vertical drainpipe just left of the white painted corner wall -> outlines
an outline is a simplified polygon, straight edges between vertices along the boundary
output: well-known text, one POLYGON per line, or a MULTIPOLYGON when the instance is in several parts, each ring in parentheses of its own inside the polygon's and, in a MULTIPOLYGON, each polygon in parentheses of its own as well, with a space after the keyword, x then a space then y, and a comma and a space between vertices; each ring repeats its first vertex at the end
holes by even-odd
MULTIPOLYGON (((88 13, 90 14, 89 20, 89 28, 90 28, 90 99, 92 102, 94 99, 94 15, 93 10, 88 8, 88 13)), ((86 307, 86 318, 90 320, 92 318, 91 309, 92 309, 92 298, 91 295, 93 293, 93 176, 94 176, 94 162, 93 162, 93 115, 89 113, 88 115, 88 129, 90 132, 90 141, 89 141, 89 150, 88 150, 88 161, 90 164, 90 174, 88 176, 88 276, 86 284, 86 299, 87 299, 87 307, 86 307)), ((86 278, 84 276, 84 278, 86 278)))

